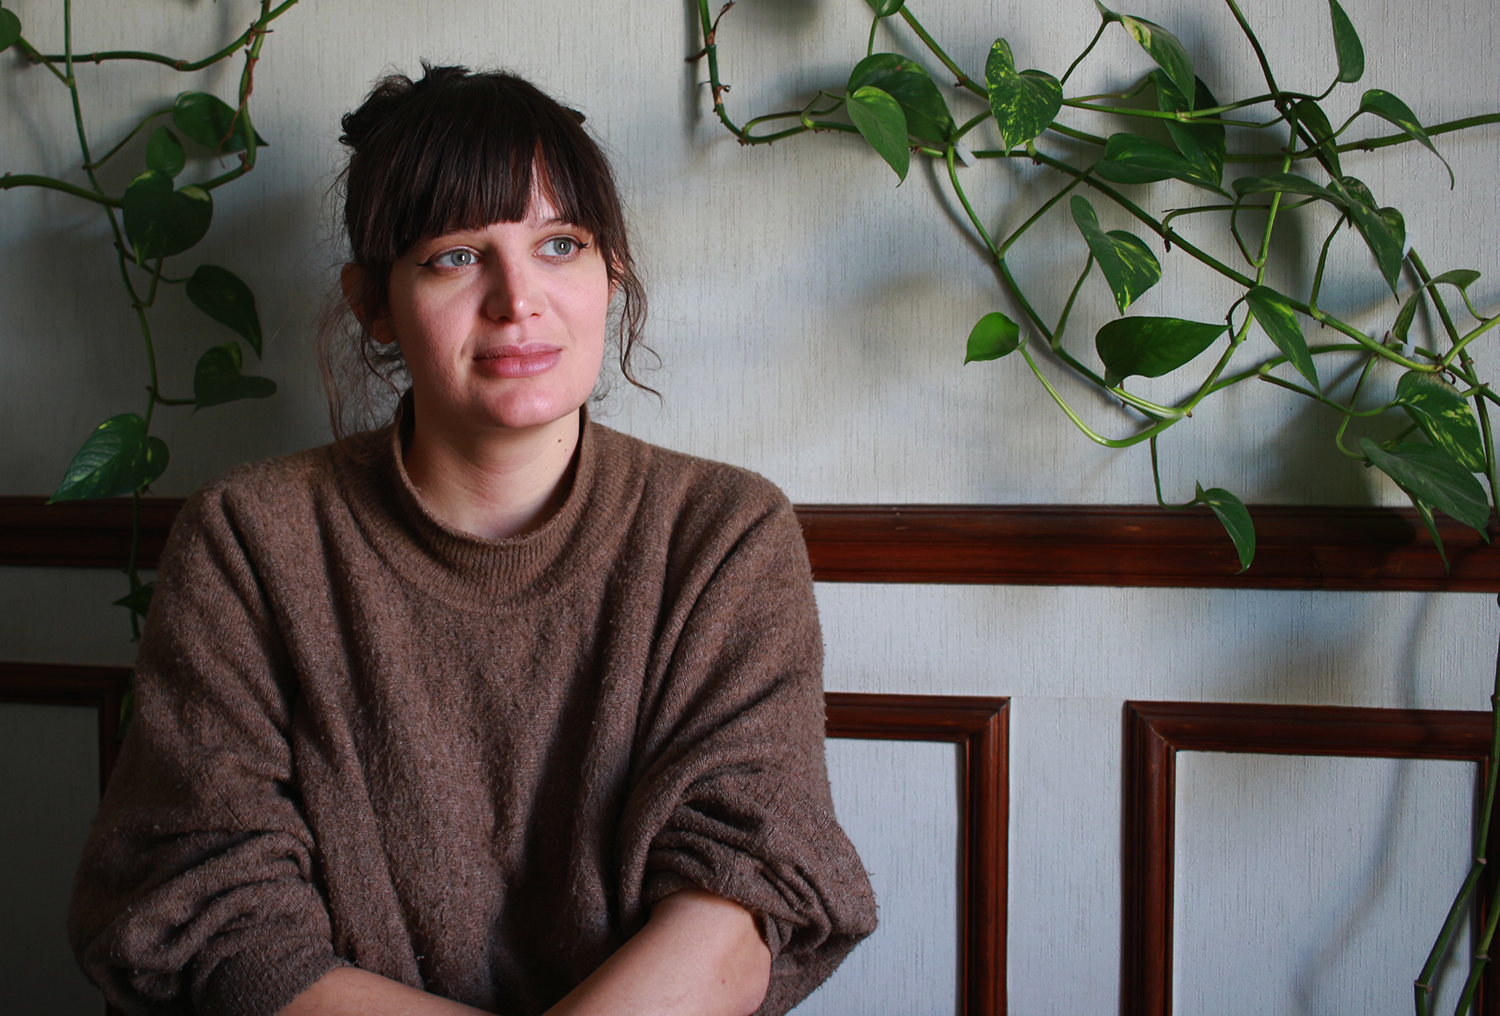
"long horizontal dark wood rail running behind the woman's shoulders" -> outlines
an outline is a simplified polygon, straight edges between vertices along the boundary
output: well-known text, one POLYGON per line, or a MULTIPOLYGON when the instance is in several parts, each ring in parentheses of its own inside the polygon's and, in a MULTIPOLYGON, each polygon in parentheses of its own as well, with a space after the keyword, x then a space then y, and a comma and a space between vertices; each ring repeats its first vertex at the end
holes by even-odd
MULTIPOLYGON (((154 567, 180 498, 141 504, 154 567)), ((1272 590, 1500 591, 1500 546, 1440 518, 1452 572, 1410 509, 1251 506, 1256 564, 1236 575, 1206 509, 1089 504, 802 504, 822 582, 981 582, 1272 590)), ((1496 527, 1491 527, 1496 530, 1496 527)), ((0 564, 124 567, 130 503, 0 497, 0 564)))

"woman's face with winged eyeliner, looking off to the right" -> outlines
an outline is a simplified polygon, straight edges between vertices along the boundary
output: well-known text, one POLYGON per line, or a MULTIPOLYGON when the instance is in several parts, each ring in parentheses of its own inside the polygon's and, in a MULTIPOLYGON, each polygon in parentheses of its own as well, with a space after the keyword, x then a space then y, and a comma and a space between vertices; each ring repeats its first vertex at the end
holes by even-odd
POLYGON ((392 266, 386 312, 417 422, 452 440, 578 410, 604 357, 610 284, 594 237, 540 194, 522 222, 418 240, 392 266))

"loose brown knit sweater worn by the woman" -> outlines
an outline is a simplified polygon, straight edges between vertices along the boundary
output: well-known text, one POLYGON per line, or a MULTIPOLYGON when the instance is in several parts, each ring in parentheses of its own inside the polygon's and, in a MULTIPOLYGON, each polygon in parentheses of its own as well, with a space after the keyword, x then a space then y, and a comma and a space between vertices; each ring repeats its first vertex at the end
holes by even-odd
POLYGON ((700 885, 783 1013, 874 927, 824 767, 822 645, 766 480, 586 423, 506 540, 390 431, 186 504, 70 935, 126 1011, 270 1016, 340 962, 540 1013, 700 885))

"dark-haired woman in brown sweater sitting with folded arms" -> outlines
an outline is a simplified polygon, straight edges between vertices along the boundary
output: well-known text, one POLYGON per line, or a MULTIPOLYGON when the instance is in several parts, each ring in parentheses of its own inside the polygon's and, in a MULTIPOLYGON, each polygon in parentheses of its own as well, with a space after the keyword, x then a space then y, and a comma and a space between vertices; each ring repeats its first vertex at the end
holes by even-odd
POLYGON ((642 291, 579 120, 462 68, 345 117, 410 389, 174 527, 70 918, 118 1005, 782 1013, 873 929, 786 498, 582 408, 642 291))

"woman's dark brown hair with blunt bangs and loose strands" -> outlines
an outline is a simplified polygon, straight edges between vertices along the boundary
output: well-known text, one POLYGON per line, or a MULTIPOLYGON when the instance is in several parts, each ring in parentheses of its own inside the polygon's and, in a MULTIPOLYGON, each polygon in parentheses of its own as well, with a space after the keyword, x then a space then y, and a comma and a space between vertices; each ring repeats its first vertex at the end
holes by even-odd
POLYGON ((645 288, 630 257, 615 176, 584 129, 584 116, 512 74, 428 63, 422 69, 420 81, 402 74, 381 78, 342 122, 339 141, 351 150, 339 176, 344 228, 350 260, 363 272, 360 290, 330 306, 320 329, 334 434, 342 438, 346 425, 369 423, 372 387, 394 390, 405 372, 396 344, 375 342, 350 305, 366 320, 380 315, 390 269, 414 243, 519 222, 538 189, 562 219, 594 236, 621 297, 620 371, 646 387, 632 372, 632 354, 642 345, 645 288))

